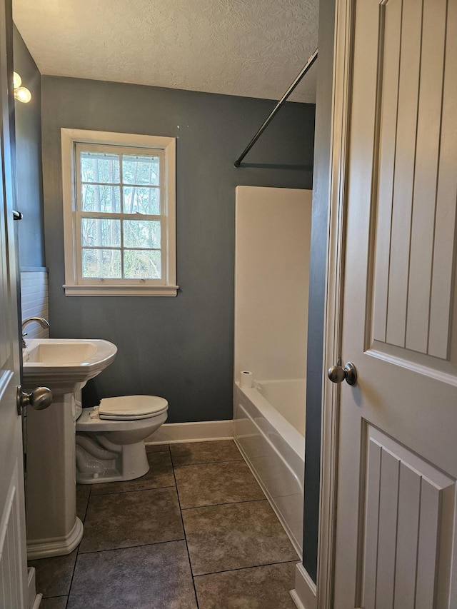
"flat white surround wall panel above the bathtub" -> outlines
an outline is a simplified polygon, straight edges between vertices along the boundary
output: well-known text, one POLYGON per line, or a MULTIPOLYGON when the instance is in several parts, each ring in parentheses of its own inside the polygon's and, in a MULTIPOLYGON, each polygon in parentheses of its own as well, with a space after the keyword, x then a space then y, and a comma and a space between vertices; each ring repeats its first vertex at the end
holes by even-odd
POLYGON ((311 191, 236 188, 235 381, 305 378, 310 233, 311 191))

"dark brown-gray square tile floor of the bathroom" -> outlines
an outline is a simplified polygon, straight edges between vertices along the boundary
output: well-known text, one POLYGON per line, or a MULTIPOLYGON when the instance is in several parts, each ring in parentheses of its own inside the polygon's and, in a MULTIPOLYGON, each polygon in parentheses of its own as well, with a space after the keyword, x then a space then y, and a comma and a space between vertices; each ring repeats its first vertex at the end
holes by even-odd
POLYGON ((294 609, 298 557, 233 441, 147 447, 151 469, 79 485, 79 548, 31 561, 42 609, 294 609))

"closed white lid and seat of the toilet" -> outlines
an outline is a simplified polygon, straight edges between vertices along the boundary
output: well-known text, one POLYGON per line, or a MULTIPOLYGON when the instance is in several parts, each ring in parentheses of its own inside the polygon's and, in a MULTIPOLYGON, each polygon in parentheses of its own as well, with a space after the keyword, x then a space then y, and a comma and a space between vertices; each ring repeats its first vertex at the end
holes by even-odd
POLYGON ((166 411, 168 407, 169 403, 158 396, 104 398, 100 402, 99 416, 111 421, 129 421, 149 418, 166 411))

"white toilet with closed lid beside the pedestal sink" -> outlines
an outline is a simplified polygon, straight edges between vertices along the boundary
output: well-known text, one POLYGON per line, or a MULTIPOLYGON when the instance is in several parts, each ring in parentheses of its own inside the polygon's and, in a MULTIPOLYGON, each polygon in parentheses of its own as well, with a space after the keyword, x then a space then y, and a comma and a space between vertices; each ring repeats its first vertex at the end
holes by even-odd
POLYGON ((133 480, 149 470, 144 440, 165 423, 169 403, 157 396, 104 398, 76 420, 76 482, 133 480))

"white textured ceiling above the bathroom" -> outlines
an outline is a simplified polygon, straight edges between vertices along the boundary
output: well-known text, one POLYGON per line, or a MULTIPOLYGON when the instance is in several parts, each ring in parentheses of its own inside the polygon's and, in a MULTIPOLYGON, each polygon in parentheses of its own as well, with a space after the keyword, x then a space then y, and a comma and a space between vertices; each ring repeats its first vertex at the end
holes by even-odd
MULTIPOLYGON (((279 99, 317 46, 318 0, 13 0, 41 74, 279 99)), ((291 99, 313 102, 316 64, 291 99)))

